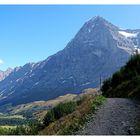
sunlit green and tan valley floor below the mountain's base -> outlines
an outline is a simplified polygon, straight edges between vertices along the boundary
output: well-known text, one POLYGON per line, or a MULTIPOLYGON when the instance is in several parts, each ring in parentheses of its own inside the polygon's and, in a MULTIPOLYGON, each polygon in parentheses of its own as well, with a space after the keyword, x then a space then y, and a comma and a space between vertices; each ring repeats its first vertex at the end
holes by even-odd
POLYGON ((12 106, 10 104, 0 107, 0 126, 15 127, 26 125, 33 120, 42 120, 47 110, 59 103, 75 100, 76 94, 66 94, 49 101, 35 101, 28 104, 12 106))

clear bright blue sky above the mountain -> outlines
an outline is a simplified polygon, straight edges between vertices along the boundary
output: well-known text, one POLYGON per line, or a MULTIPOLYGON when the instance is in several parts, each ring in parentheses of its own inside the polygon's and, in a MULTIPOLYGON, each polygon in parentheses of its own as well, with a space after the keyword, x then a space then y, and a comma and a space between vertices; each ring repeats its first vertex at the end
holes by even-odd
POLYGON ((62 50, 85 21, 102 16, 140 29, 140 5, 0 5, 0 69, 37 62, 62 50))

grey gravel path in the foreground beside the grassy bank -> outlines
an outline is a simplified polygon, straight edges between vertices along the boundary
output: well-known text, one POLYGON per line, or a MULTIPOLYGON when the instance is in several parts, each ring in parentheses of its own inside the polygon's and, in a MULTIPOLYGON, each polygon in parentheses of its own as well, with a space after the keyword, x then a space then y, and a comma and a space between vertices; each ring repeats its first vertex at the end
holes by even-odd
POLYGON ((131 135, 135 134, 140 105, 129 99, 108 98, 95 118, 77 135, 131 135))

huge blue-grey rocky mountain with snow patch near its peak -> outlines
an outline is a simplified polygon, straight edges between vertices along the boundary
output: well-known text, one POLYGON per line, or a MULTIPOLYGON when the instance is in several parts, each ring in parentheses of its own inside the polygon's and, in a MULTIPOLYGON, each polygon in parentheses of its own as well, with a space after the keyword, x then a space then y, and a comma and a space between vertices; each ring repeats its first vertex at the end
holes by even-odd
POLYGON ((98 87, 140 51, 140 30, 120 29, 93 17, 67 46, 38 63, 15 68, 0 82, 0 105, 49 100, 98 87))

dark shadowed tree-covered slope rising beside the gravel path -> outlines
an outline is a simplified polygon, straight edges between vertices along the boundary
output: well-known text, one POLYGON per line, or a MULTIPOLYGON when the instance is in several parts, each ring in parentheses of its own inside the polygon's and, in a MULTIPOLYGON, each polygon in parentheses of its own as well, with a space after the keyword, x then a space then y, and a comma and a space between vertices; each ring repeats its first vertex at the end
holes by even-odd
POLYGON ((126 97, 140 100, 140 54, 130 58, 124 67, 104 81, 103 95, 106 97, 126 97))

